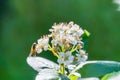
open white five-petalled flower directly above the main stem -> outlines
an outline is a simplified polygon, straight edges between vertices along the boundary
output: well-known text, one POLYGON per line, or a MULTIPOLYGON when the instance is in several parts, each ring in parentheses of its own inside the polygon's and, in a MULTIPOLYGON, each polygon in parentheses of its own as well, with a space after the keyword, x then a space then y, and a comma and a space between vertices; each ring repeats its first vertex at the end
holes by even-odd
POLYGON ((70 65, 74 60, 74 56, 71 54, 70 51, 67 51, 66 53, 60 52, 59 56, 60 58, 58 58, 57 62, 59 64, 63 63, 65 66, 70 65))

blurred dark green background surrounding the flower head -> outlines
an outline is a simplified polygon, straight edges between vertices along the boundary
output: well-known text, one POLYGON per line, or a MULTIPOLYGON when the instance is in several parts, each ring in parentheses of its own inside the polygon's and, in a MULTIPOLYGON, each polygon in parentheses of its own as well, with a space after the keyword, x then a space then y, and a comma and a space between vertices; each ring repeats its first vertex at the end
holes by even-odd
POLYGON ((26 58, 54 22, 74 21, 91 33, 89 60, 120 61, 117 7, 112 0, 0 0, 0 80, 34 80, 26 58))

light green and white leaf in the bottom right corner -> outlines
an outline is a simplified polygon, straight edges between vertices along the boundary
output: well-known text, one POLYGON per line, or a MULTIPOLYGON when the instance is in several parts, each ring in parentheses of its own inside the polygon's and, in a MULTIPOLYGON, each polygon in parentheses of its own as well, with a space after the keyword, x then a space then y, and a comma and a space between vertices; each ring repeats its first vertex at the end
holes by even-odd
POLYGON ((106 74, 101 80, 120 80, 120 71, 106 74))

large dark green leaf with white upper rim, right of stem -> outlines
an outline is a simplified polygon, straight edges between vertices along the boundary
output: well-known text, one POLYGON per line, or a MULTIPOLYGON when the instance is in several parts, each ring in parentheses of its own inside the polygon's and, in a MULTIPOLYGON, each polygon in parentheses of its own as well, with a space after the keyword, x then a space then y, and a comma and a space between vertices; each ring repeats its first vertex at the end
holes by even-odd
POLYGON ((101 77, 107 73, 120 71, 120 63, 115 61, 86 61, 84 64, 80 64, 76 70, 82 77, 101 77))

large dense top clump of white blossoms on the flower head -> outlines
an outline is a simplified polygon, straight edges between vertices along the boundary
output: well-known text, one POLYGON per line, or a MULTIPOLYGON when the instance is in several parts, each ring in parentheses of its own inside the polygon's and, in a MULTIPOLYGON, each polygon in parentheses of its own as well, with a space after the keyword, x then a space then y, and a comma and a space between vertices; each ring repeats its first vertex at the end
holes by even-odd
POLYGON ((52 32, 53 38, 51 43, 54 46, 63 46, 64 44, 79 44, 81 42, 80 36, 84 33, 84 31, 73 22, 70 22, 69 24, 55 24, 52 26, 52 29, 50 29, 50 32, 52 32))

